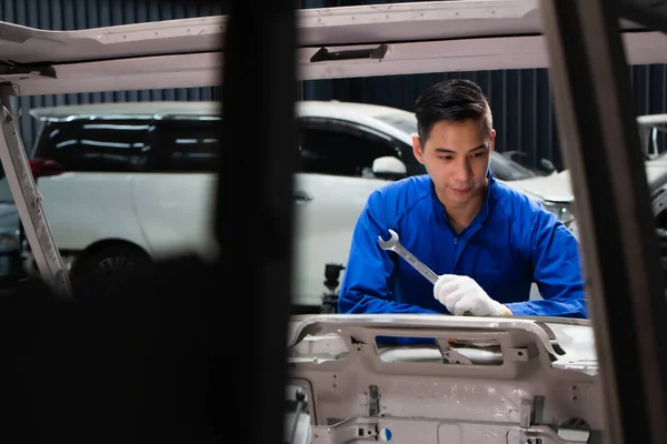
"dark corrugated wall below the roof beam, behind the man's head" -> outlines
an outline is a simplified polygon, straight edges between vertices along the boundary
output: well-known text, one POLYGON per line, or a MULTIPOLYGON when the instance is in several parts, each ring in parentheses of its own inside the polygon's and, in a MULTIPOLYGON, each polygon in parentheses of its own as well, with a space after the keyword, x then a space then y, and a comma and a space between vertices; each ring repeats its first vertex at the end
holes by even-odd
MULTIPOLYGON (((636 114, 667 112, 667 67, 636 65, 630 73, 635 102, 628 107, 634 107, 636 114)), ((546 69, 317 80, 307 82, 305 98, 377 103, 412 111, 415 100, 426 87, 452 77, 479 83, 489 98, 498 151, 526 153, 522 162, 532 167, 544 158, 559 170, 564 168, 546 69)))

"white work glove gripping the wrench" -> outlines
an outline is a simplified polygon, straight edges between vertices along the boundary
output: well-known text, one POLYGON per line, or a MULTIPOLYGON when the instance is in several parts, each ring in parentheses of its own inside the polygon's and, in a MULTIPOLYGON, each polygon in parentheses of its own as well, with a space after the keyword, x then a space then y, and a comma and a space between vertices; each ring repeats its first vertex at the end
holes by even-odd
POLYGON ((498 316, 511 311, 489 297, 474 279, 442 274, 434 286, 434 296, 456 316, 498 316))

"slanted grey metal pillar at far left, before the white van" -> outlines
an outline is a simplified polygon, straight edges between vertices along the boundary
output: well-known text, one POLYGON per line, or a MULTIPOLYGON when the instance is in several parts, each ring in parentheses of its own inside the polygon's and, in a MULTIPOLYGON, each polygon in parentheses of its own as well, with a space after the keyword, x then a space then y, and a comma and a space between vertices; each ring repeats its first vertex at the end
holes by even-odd
POLYGON ((0 161, 4 169, 9 189, 14 199, 26 238, 43 281, 60 297, 72 296, 69 271, 60 251, 56 248, 51 229, 44 218, 41 194, 37 190, 17 115, 11 109, 10 98, 14 95, 12 85, 0 87, 0 161))

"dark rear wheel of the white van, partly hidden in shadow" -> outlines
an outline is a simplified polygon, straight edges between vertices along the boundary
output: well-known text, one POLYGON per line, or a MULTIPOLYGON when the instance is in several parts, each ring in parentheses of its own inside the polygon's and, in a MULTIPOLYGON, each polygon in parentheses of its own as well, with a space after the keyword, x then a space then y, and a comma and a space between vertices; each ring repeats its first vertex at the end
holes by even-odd
POLYGON ((70 280, 74 291, 96 289, 100 283, 102 289, 115 274, 128 270, 149 269, 153 264, 150 256, 132 245, 112 245, 94 253, 83 253, 74 260, 70 280))

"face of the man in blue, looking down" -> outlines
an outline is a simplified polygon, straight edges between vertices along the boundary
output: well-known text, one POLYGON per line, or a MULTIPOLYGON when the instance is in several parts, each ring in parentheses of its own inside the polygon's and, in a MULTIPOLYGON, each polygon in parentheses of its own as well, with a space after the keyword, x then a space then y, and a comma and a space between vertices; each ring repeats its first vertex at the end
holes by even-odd
POLYGON ((484 192, 495 140, 496 132, 486 133, 481 120, 440 121, 426 141, 412 137, 412 150, 442 203, 459 206, 484 192))

